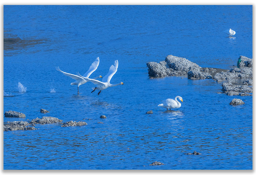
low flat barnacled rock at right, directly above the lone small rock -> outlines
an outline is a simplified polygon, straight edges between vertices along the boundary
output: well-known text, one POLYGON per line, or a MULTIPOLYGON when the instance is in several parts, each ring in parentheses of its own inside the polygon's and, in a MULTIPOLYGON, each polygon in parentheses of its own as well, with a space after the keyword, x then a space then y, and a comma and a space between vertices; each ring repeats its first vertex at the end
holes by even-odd
MULTIPOLYGON (((222 91, 227 92, 250 92, 252 93, 252 87, 247 85, 234 85, 232 83, 222 83, 222 91)), ((230 93, 229 93, 230 94, 230 93)), ((228 94, 227 94, 228 95, 228 94)))

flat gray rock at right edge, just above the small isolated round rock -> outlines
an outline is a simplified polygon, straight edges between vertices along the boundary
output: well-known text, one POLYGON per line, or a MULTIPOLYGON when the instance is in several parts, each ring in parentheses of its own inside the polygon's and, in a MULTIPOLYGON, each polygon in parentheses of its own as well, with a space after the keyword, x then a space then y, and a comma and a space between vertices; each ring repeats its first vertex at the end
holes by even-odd
POLYGON ((234 85, 232 83, 222 83, 222 91, 227 95, 241 95, 241 96, 251 96, 246 92, 252 93, 252 87, 248 85, 234 85))

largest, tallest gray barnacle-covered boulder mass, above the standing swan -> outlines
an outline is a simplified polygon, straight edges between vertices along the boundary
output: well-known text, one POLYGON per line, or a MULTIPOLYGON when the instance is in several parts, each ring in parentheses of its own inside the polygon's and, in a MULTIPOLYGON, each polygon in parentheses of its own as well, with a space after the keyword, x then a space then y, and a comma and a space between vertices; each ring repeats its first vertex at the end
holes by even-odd
POLYGON ((186 58, 168 55, 165 61, 148 62, 148 75, 152 77, 186 75, 190 70, 200 71, 202 68, 186 58))

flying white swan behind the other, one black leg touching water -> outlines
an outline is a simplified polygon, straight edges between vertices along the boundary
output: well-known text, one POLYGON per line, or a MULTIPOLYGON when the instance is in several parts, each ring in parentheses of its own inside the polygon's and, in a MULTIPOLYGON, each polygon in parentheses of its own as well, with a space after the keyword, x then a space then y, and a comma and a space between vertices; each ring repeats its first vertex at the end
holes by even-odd
MULTIPOLYGON (((92 65, 90 66, 89 70, 83 76, 88 78, 92 74, 92 72, 94 72, 98 68, 99 63, 100 63, 100 58, 97 57, 95 59, 95 61, 92 63, 92 65)), ((88 82, 88 81, 84 80, 83 78, 81 78, 78 75, 74 75, 74 74, 71 74, 71 73, 67 73, 67 72, 61 71, 59 67, 56 67, 56 70, 62 72, 64 75, 69 76, 70 78, 73 78, 73 79, 76 80, 76 82, 73 82, 73 83, 70 83, 70 84, 71 85, 74 85, 74 84, 78 85, 77 86, 77 95, 79 94, 79 89, 78 89, 79 86, 84 84, 84 83, 86 83, 86 82, 88 82)), ((93 79, 97 79, 97 78, 102 78, 102 76, 100 75, 100 76, 95 77, 93 79)))

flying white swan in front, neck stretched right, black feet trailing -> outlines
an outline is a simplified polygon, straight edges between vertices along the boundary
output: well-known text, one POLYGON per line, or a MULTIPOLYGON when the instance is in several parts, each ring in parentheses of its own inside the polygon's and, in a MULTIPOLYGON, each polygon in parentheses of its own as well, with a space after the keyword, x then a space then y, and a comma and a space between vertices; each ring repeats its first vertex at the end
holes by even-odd
POLYGON ((106 74, 103 78, 102 81, 99 80, 94 80, 94 79, 90 79, 84 76, 81 76, 78 72, 78 75, 81 76, 82 78, 84 78, 86 81, 90 81, 93 84, 96 85, 96 87, 92 87, 94 92, 96 89, 100 90, 100 92, 98 93, 98 95, 101 93, 101 90, 107 89, 108 87, 113 87, 113 86, 117 86, 117 85, 121 85, 124 84, 123 82, 118 83, 118 84, 110 84, 110 80, 113 77, 113 75, 115 74, 115 72, 117 71, 118 68, 118 60, 115 60, 114 65, 111 65, 109 68, 109 73, 106 74))

